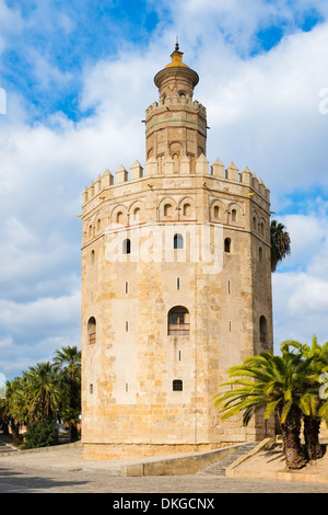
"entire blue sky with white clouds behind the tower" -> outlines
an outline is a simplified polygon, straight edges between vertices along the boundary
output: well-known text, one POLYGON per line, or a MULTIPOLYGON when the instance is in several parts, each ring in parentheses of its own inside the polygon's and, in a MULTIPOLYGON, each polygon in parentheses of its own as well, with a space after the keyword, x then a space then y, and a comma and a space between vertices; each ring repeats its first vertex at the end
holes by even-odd
POLYGON ((328 340, 327 3, 0 0, 7 378, 80 345, 82 191, 106 168, 144 164, 140 122, 177 33, 200 76, 210 162, 260 176, 292 238, 273 274, 276 348, 328 340))

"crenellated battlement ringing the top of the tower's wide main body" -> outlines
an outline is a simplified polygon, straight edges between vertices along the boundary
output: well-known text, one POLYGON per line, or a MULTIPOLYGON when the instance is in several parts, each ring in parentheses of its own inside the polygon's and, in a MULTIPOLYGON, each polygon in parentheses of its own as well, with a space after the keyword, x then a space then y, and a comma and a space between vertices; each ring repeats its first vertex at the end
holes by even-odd
MULTIPOLYGON (((175 173, 174 159, 168 156, 163 161, 155 158, 149 159, 145 162, 144 169, 139 161, 136 161, 130 167, 129 172, 121 164, 117 169, 115 175, 106 169, 103 175, 98 175, 95 181, 92 181, 90 185, 84 188, 83 205, 104 191, 115 191, 126 184, 143 181, 147 178, 152 179, 153 181, 163 178, 180 179, 179 187, 183 187, 183 181, 185 179, 195 176, 202 176, 204 180, 208 178, 210 181, 216 181, 215 184, 204 182, 204 187, 219 187, 220 190, 226 191, 229 185, 245 186, 251 192, 248 193, 248 195, 258 194, 267 203, 270 202, 269 188, 263 184, 261 179, 257 178, 255 173, 248 169, 248 167, 245 167, 239 171, 233 162, 225 167, 219 158, 210 165, 209 160, 203 154, 201 154, 196 161, 196 173, 190 172, 191 163, 187 156, 183 156, 178 164, 179 172, 175 173)), ((154 187, 154 185, 152 185, 152 187, 154 187)))

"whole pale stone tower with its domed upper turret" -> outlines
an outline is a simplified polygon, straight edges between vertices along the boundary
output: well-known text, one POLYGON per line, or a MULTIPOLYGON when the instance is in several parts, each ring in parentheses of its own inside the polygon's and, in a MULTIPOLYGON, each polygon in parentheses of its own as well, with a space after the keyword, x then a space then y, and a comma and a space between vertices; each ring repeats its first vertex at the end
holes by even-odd
MULTIPOLYGON (((176 46, 154 78, 145 165, 83 193, 82 440, 86 458, 265 436, 213 407, 227 369, 272 348, 269 190, 206 157, 198 75, 176 46)), ((266 428, 268 431, 268 428, 266 428)))

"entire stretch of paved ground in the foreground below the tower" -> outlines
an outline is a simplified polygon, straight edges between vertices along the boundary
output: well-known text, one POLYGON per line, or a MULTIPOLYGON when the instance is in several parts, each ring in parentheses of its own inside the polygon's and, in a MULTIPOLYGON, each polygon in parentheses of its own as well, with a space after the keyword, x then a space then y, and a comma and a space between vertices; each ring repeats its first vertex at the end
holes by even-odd
POLYGON ((82 460, 81 447, 0 455, 0 493, 328 493, 328 483, 214 474, 121 477, 120 462, 82 460))

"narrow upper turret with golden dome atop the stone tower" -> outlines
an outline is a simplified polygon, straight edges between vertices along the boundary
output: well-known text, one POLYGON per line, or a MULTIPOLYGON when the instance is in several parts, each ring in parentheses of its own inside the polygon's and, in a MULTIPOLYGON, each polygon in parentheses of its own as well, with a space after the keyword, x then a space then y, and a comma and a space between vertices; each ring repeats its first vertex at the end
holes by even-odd
POLYGON ((159 160, 160 173, 167 157, 174 160, 175 173, 180 172, 183 157, 188 158, 190 172, 195 173, 197 159, 206 156, 207 113, 199 102, 192 101, 199 77, 183 62, 183 55, 176 45, 172 61, 155 75, 160 101, 147 110, 147 159, 159 160))

